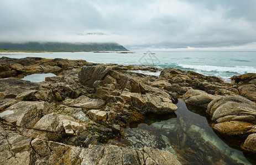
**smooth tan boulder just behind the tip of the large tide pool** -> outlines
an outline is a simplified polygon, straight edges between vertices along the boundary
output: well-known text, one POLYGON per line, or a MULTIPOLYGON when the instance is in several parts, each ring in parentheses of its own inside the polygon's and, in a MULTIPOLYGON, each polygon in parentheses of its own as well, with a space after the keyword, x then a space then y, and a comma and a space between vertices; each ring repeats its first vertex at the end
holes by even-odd
POLYGON ((208 104, 218 96, 207 94, 201 90, 189 89, 183 98, 186 103, 207 108, 208 104))

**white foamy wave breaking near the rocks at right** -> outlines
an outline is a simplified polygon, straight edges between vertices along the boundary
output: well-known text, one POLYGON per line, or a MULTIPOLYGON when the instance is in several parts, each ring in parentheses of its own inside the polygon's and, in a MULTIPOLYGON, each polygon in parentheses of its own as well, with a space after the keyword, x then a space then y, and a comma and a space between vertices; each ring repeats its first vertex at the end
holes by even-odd
POLYGON ((213 65, 189 65, 177 64, 178 67, 184 69, 195 69, 201 72, 233 72, 239 74, 256 73, 256 67, 236 66, 236 67, 220 67, 213 65))

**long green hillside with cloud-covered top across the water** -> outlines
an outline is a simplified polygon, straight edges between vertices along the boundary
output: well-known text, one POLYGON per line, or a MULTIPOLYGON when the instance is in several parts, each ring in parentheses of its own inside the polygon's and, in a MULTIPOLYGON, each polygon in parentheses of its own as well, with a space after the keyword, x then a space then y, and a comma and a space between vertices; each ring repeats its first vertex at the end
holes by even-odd
POLYGON ((27 42, 0 43, 0 50, 18 51, 128 51, 117 43, 27 42))

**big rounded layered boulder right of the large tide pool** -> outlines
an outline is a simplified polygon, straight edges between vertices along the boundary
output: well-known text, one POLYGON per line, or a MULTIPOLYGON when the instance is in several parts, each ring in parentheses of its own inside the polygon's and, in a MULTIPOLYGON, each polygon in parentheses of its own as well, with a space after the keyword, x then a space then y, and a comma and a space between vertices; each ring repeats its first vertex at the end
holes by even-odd
MULTIPOLYGON (((213 100, 207 108, 212 120, 217 124, 214 128, 225 135, 246 137, 256 133, 256 103, 242 96, 223 96, 213 100)), ((249 146, 247 146, 248 150, 249 146)))

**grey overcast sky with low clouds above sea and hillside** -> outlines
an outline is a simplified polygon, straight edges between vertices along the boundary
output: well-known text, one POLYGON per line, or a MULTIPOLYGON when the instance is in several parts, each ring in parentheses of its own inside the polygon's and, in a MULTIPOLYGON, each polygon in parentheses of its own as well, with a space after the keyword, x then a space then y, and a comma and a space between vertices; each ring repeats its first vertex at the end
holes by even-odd
POLYGON ((255 0, 0 0, 0 41, 256 50, 255 8, 255 0))

